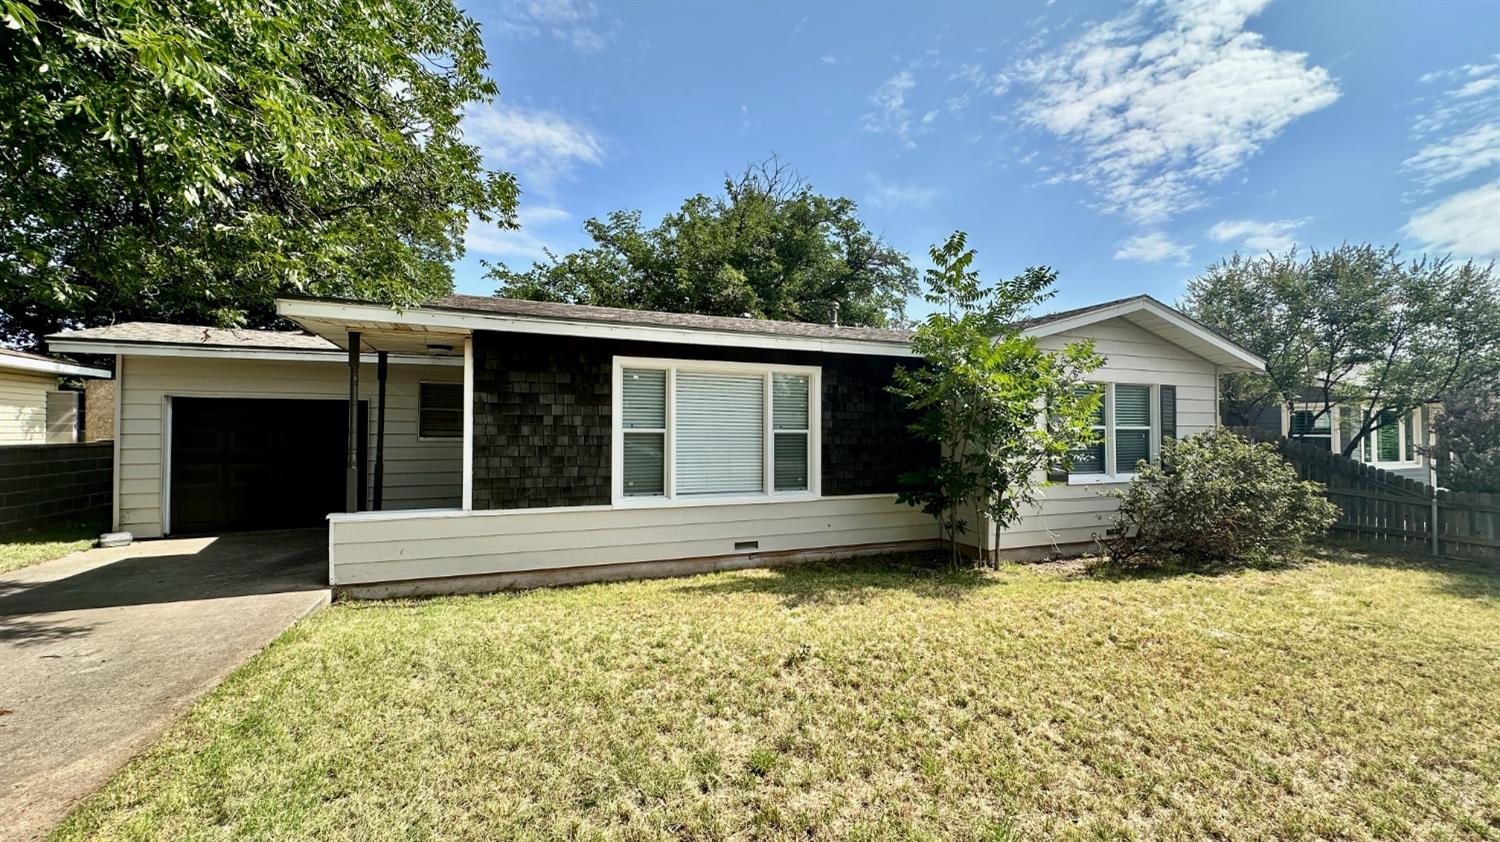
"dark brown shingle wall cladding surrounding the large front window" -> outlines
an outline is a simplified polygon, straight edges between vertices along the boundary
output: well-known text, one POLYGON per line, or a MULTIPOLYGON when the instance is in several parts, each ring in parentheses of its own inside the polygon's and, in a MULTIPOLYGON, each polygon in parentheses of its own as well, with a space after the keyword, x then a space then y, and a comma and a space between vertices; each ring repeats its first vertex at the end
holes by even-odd
MULTIPOLYGON (((890 494, 938 449, 912 437, 886 390, 900 360, 566 336, 474 336, 474 507, 600 506, 610 500, 614 357, 822 368, 822 494, 890 494)), ((908 360, 910 362, 910 360, 908 360)))

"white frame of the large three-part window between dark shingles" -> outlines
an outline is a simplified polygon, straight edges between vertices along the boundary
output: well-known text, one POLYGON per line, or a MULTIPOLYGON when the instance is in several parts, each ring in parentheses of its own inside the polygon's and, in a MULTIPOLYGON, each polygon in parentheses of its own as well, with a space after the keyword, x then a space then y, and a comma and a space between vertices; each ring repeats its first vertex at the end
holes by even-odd
MULTIPOLYGON (((789 500, 822 498, 822 368, 772 363, 730 363, 718 360, 682 360, 668 357, 615 357, 610 377, 610 498, 616 509, 656 506, 714 506, 735 503, 783 503, 789 500), (666 429, 662 447, 662 495, 626 495, 626 429, 624 372, 626 369, 656 369, 666 372, 666 429), (676 495, 676 375, 694 374, 758 374, 764 383, 762 419, 762 491, 759 494, 694 494, 676 495), (776 491, 776 429, 771 375, 795 374, 807 377, 807 489, 776 491)), ((645 432, 645 431, 640 431, 645 432)))

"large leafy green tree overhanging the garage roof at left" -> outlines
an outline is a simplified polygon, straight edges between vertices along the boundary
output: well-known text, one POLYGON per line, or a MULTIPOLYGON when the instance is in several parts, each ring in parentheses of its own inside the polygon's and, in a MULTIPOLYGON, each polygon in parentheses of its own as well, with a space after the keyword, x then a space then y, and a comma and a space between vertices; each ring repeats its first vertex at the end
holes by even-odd
POLYGON ((260 326, 310 293, 452 290, 516 182, 462 143, 495 95, 450 0, 0 0, 0 339, 260 326))

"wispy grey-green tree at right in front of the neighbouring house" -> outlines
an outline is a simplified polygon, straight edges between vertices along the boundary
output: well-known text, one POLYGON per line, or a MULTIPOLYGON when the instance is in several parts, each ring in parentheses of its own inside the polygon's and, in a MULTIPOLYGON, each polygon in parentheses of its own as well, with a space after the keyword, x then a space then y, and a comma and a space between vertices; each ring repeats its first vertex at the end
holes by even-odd
POLYGON ((1226 416, 1353 407, 1344 455, 1412 410, 1500 377, 1494 264, 1402 261, 1395 248, 1344 245, 1242 258, 1191 281, 1184 309, 1266 357, 1264 375, 1226 378, 1226 416))

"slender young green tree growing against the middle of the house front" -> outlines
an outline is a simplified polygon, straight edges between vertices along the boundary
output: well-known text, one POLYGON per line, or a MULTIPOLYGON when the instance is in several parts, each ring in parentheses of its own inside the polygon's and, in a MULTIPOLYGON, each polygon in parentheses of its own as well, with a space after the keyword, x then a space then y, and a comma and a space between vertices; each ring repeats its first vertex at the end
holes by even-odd
POLYGON ((958 537, 986 518, 1000 528, 1034 503, 1046 470, 1092 443, 1100 395, 1084 377, 1102 363, 1092 342, 1044 351, 1012 326, 1052 297, 1056 272, 1032 267, 986 288, 966 236, 933 246, 924 297, 939 306, 912 338, 924 365, 900 368, 891 392, 918 414, 912 431, 940 447, 938 464, 903 476, 902 501, 939 518, 954 563, 958 537))

